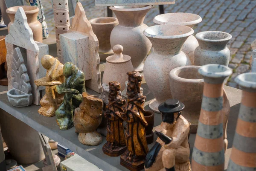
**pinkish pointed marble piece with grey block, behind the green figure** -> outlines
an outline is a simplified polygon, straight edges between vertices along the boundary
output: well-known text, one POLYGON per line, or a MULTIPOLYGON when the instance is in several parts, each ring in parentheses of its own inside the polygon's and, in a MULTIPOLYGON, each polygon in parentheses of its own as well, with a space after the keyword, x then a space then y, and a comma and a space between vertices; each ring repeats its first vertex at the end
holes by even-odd
MULTIPOLYGON (((63 40, 60 41, 61 47, 63 47, 63 50, 66 48, 66 52, 67 49, 77 49, 79 46, 84 47, 80 50, 78 49, 77 54, 74 56, 67 56, 69 54, 63 53, 63 57, 65 56, 63 58, 65 60, 64 63, 68 62, 67 60, 70 60, 70 57, 74 58, 71 61, 78 61, 79 69, 84 72, 84 75, 87 78, 85 81, 85 86, 96 91, 97 93, 102 93, 102 85, 100 83, 101 73, 99 70, 100 60, 98 53, 99 41, 96 35, 93 33, 92 26, 89 20, 87 20, 81 3, 77 3, 76 5, 75 17, 72 19, 72 27, 70 28, 70 32, 61 34, 60 39, 63 40), (81 43, 81 45, 79 45, 79 43, 81 43)), ((75 52, 72 52, 72 54, 75 52)))

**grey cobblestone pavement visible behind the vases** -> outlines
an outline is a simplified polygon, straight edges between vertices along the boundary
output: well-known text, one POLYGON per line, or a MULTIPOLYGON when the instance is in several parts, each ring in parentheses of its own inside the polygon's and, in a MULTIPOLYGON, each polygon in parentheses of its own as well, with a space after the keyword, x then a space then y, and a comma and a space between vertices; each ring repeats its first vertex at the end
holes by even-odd
MULTIPOLYGON (((84 6, 87 18, 104 17, 106 7, 96 7, 94 0, 79 0, 84 6)), ((49 33, 54 32, 53 10, 50 0, 43 0, 46 22, 49 33)), ((174 5, 165 5, 165 13, 187 12, 198 14, 202 22, 193 29, 195 34, 207 30, 228 32, 232 35, 228 43, 230 48, 230 64, 233 74, 227 85, 237 87, 234 79, 237 75, 250 71, 250 44, 256 39, 256 0, 176 0, 174 5)), ((153 18, 159 14, 158 6, 154 6, 145 18, 145 24, 154 25, 153 18)))

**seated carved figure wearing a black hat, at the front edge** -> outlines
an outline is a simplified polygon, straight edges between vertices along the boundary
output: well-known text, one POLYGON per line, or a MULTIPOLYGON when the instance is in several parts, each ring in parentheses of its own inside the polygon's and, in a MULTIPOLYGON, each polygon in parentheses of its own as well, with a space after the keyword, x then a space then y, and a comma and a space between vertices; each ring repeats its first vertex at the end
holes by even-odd
POLYGON ((145 161, 145 171, 190 171, 189 127, 190 123, 181 116, 184 104, 169 99, 158 107, 163 122, 156 128, 158 136, 145 161))

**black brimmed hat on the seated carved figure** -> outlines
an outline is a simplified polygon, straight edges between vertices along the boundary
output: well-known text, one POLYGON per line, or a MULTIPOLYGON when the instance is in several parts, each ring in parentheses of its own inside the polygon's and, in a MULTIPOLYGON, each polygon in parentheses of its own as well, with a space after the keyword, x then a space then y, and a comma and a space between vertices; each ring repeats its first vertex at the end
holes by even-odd
POLYGON ((184 107, 185 105, 177 99, 168 99, 159 105, 158 110, 161 113, 176 113, 183 110, 184 107))

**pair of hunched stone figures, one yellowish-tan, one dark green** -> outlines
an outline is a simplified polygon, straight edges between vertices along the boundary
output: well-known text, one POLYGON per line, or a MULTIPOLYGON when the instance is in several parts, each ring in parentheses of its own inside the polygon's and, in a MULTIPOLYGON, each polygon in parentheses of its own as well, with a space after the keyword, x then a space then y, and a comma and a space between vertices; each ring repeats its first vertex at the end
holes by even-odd
POLYGON ((56 115, 60 129, 67 130, 73 127, 73 112, 86 91, 84 73, 71 62, 63 65, 50 55, 44 55, 41 64, 47 74, 35 84, 46 86, 46 94, 40 101, 38 113, 48 117, 56 115))

